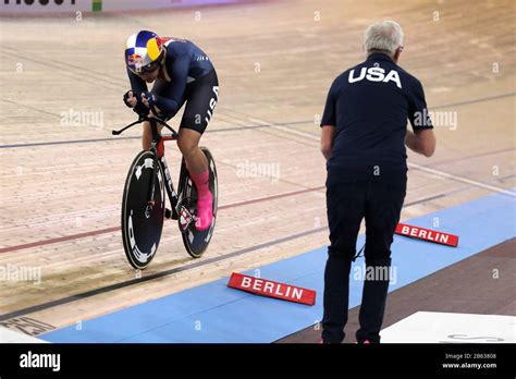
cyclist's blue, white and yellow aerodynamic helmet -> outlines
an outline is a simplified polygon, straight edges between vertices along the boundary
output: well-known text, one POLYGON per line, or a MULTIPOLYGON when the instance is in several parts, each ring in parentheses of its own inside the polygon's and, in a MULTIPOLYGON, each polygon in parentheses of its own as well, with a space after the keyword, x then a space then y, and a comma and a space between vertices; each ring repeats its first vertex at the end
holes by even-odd
POLYGON ((140 30, 125 42, 125 63, 135 74, 155 71, 163 56, 164 47, 156 33, 140 30))

